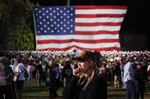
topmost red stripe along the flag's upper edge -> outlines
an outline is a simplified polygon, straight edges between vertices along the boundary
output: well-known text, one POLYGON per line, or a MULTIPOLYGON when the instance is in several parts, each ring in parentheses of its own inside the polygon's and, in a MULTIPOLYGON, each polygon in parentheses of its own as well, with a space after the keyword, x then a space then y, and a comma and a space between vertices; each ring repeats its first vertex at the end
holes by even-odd
POLYGON ((75 6, 76 9, 127 9, 127 6, 75 6))

